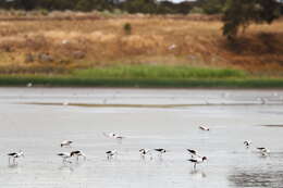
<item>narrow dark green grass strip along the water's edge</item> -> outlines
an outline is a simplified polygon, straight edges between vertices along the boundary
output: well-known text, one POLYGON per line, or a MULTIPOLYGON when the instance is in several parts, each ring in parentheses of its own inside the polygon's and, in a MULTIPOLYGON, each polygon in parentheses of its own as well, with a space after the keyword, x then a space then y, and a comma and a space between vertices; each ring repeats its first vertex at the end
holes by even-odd
POLYGON ((279 89, 283 88, 283 78, 126 79, 0 76, 0 87, 28 87, 28 84, 32 84, 29 87, 279 89))

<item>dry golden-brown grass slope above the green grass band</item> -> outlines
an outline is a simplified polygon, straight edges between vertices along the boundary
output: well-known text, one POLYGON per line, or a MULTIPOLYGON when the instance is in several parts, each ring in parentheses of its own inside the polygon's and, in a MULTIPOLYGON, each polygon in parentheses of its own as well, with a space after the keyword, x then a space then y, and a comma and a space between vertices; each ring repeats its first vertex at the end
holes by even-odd
POLYGON ((232 45, 221 35, 221 22, 199 15, 106 18, 73 13, 58 18, 53 14, 25 21, 0 14, 0 72, 54 72, 56 67, 113 63, 222 66, 271 75, 283 71, 282 21, 251 26, 232 45), (71 20, 71 15, 84 18, 71 20), (132 35, 123 30, 125 23, 132 25, 132 35))

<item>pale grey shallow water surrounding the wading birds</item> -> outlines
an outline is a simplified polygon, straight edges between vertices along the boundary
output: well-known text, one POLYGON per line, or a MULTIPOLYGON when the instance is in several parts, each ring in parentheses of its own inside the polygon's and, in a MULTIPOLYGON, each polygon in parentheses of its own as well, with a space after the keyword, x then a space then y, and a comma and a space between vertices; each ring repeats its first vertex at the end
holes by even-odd
POLYGON ((283 187, 282 104, 276 90, 0 88, 0 187, 283 187), (72 149, 60 148, 64 139, 72 149), (143 161, 140 148, 170 151, 143 161), (207 163, 194 171, 186 148, 207 163), (5 153, 19 149, 25 158, 9 165, 5 153), (76 149, 86 161, 64 165, 56 155, 76 149), (107 161, 112 149, 119 155, 107 161))

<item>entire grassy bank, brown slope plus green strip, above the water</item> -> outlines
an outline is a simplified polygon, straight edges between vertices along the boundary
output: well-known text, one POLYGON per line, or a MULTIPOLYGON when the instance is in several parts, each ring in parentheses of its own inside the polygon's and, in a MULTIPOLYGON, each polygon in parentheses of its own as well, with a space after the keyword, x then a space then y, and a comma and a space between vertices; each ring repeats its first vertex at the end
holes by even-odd
POLYGON ((0 14, 0 26, 2 86, 283 87, 283 20, 233 43, 204 15, 0 14))

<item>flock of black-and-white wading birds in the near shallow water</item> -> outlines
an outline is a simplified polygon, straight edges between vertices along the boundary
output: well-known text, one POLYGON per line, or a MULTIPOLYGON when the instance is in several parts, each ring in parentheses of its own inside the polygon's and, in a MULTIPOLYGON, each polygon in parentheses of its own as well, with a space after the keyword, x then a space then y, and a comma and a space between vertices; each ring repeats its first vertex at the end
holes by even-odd
MULTIPOLYGON (((204 131, 209 131, 210 128, 206 127, 206 126, 199 126, 199 129, 204 130, 204 131)), ((116 139, 118 141, 122 141, 125 137, 121 136, 119 134, 115 133, 103 133, 103 135, 108 138, 113 138, 116 139)), ((60 147, 61 148, 72 148, 73 141, 71 140, 64 140, 61 142, 60 147)), ((249 140, 245 140, 244 141, 244 146, 246 147, 246 149, 249 149, 251 146, 251 141, 249 140)), ((256 148, 258 150, 258 152, 262 155, 262 156, 267 156, 270 153, 270 150, 268 150, 267 148, 256 148)), ((208 160, 207 156, 204 156, 201 154, 199 154, 199 152, 197 150, 193 150, 193 149, 186 149, 188 154, 190 155, 190 159, 188 159, 187 161, 193 163, 194 170, 196 170, 197 164, 204 163, 205 161, 208 160)), ((150 160, 153 159, 152 155, 152 151, 158 153, 158 156, 161 159, 163 153, 167 153, 168 150, 163 149, 163 148, 155 148, 155 149, 145 149, 142 148, 139 149, 139 154, 140 158, 143 160, 145 160, 147 156, 149 156, 150 160)), ((72 163, 72 161, 69 161, 71 158, 76 158, 76 161, 79 160, 79 158, 83 158, 84 160, 86 160, 86 155, 81 151, 81 150, 74 150, 71 152, 60 152, 57 154, 58 156, 61 156, 63 159, 63 163, 72 163)), ((118 151, 116 150, 109 150, 106 152, 106 156, 107 160, 112 160, 113 158, 116 158, 118 155, 118 151)), ((24 152, 22 150, 20 150, 19 152, 12 152, 12 153, 8 153, 9 156, 9 164, 11 164, 11 159, 13 160, 13 164, 16 164, 16 159, 24 156, 24 152)))

